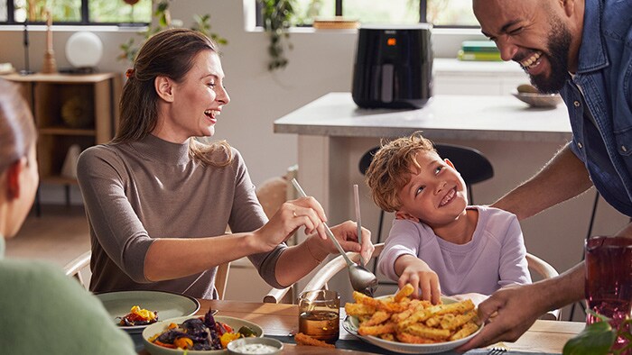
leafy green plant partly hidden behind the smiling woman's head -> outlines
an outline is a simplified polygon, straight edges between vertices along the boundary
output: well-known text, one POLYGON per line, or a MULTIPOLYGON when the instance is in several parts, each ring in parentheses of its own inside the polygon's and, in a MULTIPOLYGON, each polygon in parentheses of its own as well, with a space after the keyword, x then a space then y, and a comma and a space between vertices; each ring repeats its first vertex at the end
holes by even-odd
MULTIPOLYGON (((136 53, 140 49, 140 45, 147 41, 149 37, 157 32, 161 32, 166 28, 172 27, 172 15, 169 12, 169 5, 171 5, 172 0, 160 0, 155 4, 155 10, 153 11, 153 18, 155 19, 155 26, 152 27, 151 23, 147 26, 147 31, 141 32, 139 34, 144 36, 144 39, 141 43, 136 45, 134 38, 130 38, 129 41, 122 43, 119 48, 122 51, 121 54, 117 57, 119 60, 127 60, 130 63, 134 62, 136 57, 136 53)), ((210 14, 194 14, 193 20, 195 23, 191 26, 191 30, 199 31, 209 36, 209 38, 219 45, 226 45, 228 41, 219 36, 215 32, 210 32, 210 14)))

